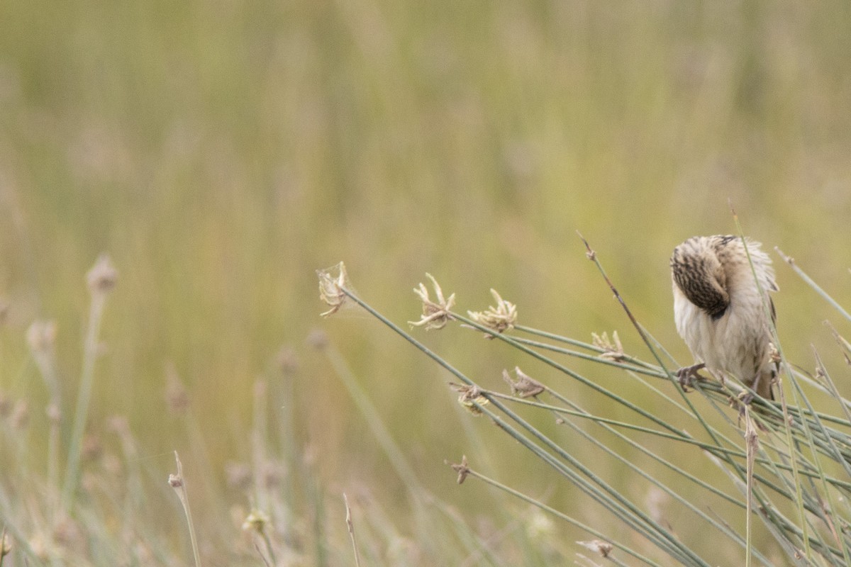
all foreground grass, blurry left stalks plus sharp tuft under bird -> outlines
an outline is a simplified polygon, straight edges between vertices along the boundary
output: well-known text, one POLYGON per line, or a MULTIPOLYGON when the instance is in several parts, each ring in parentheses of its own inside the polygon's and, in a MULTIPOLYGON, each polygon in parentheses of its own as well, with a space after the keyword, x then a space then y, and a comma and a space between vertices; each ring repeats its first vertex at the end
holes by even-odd
MULTIPOLYGON (((535 377, 519 367, 503 371, 500 379, 507 390, 485 388, 482 380, 460 371, 414 333, 381 315, 352 291, 342 264, 333 275, 320 272, 322 297, 330 306, 323 315, 347 310, 354 303, 390 327, 448 373, 468 416, 493 422, 517 443, 515 450, 528 451, 528 456, 512 459, 545 464, 554 487, 567 483, 584 495, 581 506, 550 503, 515 486, 516 479, 495 478, 500 466, 489 466, 495 476, 484 473, 475 459, 487 458, 490 441, 473 432, 467 439, 480 445, 471 447, 477 457, 447 462, 451 467, 447 474, 457 475, 459 483, 482 481, 496 490, 488 493, 488 499, 504 499, 502 494, 518 504, 495 513, 494 521, 503 525, 498 536, 486 537, 471 529, 457 504, 427 488, 345 356, 317 332, 311 345, 323 353, 367 423, 363 439, 380 446, 392 473, 407 489, 403 507, 411 517, 410 533, 404 527, 407 523, 398 524, 397 508, 383 509, 370 496, 375 486, 350 485, 346 494, 354 497, 345 496, 341 505, 342 491, 328 490, 317 479, 311 458, 288 449, 294 442, 290 428, 298 427, 288 413, 294 411, 292 396, 286 394, 286 381, 292 377, 276 377, 271 387, 266 378, 255 384, 254 423, 245 437, 250 439, 250 458, 227 472, 238 495, 236 501, 227 498, 233 515, 205 518, 200 525, 192 520, 192 507, 201 499, 189 497, 187 483, 201 486, 221 471, 185 469, 178 459, 178 472, 167 483, 162 471, 147 466, 140 470, 138 442, 121 418, 110 421, 121 451, 120 456, 111 456, 94 434, 89 416, 77 413, 69 422, 53 409, 71 405, 56 389, 58 394, 49 396, 48 411, 36 419, 43 420, 50 432, 49 454, 43 460, 30 454, 26 432, 35 418, 26 400, 3 400, 4 445, 15 454, 8 458, 12 453, 4 450, 4 462, 14 465, 0 482, 0 521, 9 541, 3 564, 166 565, 186 563, 191 557, 196 564, 252 560, 267 565, 551 564, 571 557, 580 564, 602 559, 624 565, 848 564, 851 402, 839 394, 820 357, 813 375, 781 357, 784 372, 778 402, 757 397, 743 404, 748 392, 732 381, 699 379, 692 385, 694 393, 686 393, 671 372, 677 362, 633 315, 597 252, 588 246, 586 255, 642 338, 648 360, 625 351, 622 333, 594 333, 589 343, 521 325, 522 307, 495 291, 493 306, 462 315, 454 309, 454 294, 444 293, 431 276, 432 290, 422 284, 415 288, 422 315, 409 326, 432 332, 473 330, 492 339, 480 343, 483 351, 504 344, 518 365, 539 368, 535 377), (654 407, 664 409, 648 411, 646 400, 637 403, 623 393, 629 388, 609 388, 597 380, 596 371, 575 370, 572 360, 590 362, 599 371, 622 372, 659 400, 654 407), (566 390, 562 378, 605 396, 606 410, 583 407, 576 389, 566 390), (818 396, 820 409, 814 402, 818 396), (835 411, 825 400, 832 400, 835 411), (280 434, 271 433, 269 415, 286 426, 280 434), (77 420, 87 425, 82 440, 75 442, 77 420), (53 439, 71 443, 57 444, 53 439), (72 476, 79 482, 62 498, 61 473, 69 478, 75 468, 72 476), (629 481, 623 482, 624 477, 629 481), (174 493, 167 496, 167 485, 177 492, 179 506, 174 493), (188 530, 177 521, 180 507, 188 530), (549 527, 535 534, 532 526, 547 526, 547 516, 570 524, 585 537, 569 544, 557 541, 558 532, 549 527), (615 527, 618 524, 624 529, 615 527), (214 536, 217 532, 219 536, 214 536)), ((107 265, 101 261, 92 271, 106 274, 106 279, 90 278, 92 301, 98 303, 93 309, 95 325, 115 282, 115 271, 107 270, 107 265)), ((833 303, 824 290, 815 289, 833 303)), ((97 337, 96 332, 89 334, 97 337)), ((38 324, 28 335, 32 360, 53 391, 55 329, 38 324)), ((835 337, 842 354, 851 357, 848 341, 838 332, 835 337)), ((780 343, 777 346, 782 353, 780 343)), ((101 349, 87 343, 83 357, 96 357, 101 349)), ((79 381, 81 390, 92 387, 97 367, 94 361, 82 365, 89 378, 79 381)), ((291 371, 291 366, 283 367, 291 371)), ((173 411, 187 415, 191 439, 203 445, 207 433, 191 424, 191 400, 179 378, 171 379, 168 401, 173 411)), ((83 395, 84 391, 77 393, 83 395)), ((201 495, 203 490, 192 494, 201 495)))

